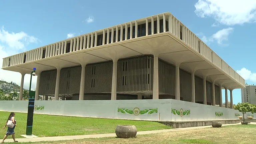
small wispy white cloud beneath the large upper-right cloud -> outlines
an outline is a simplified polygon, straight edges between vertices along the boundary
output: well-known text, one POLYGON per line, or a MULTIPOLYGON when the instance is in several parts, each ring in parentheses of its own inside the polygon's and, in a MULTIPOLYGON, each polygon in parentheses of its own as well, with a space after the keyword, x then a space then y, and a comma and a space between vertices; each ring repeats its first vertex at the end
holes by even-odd
POLYGON ((223 41, 228 40, 228 36, 233 30, 231 27, 219 30, 209 38, 209 41, 216 40, 218 44, 223 44, 223 41))

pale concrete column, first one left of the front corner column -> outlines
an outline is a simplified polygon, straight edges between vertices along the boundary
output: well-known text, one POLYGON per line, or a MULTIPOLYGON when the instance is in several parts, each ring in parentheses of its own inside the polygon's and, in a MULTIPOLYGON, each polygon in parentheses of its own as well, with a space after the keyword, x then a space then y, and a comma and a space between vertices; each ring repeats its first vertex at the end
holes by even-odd
POLYGON ((117 91, 117 60, 113 60, 111 100, 116 100, 117 91))

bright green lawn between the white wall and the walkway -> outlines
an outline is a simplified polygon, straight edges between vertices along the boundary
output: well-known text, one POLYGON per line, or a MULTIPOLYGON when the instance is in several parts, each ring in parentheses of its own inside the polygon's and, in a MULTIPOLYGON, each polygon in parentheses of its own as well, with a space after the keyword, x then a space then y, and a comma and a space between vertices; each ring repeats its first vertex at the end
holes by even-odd
MULTIPOLYGON (((17 127, 15 127, 16 138, 23 138, 20 135, 26 134, 27 114, 15 113, 17 127)), ((2 129, 10 112, 0 112, 0 139, 7 131, 2 129)), ((115 128, 119 124, 135 125, 137 131, 171 129, 171 127, 150 121, 116 120, 100 118, 81 118, 66 116, 50 116, 34 114, 33 135, 38 137, 46 136, 67 136, 115 133, 115 128)), ((9 136, 8 138, 11 138, 9 136)))

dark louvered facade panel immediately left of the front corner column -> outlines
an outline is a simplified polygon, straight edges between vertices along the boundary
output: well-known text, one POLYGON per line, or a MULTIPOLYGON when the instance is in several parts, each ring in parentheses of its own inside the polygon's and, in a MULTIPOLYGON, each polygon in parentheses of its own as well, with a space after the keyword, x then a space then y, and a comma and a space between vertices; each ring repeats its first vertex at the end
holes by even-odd
POLYGON ((117 92, 145 92, 153 89, 153 57, 121 59, 117 66, 117 92))

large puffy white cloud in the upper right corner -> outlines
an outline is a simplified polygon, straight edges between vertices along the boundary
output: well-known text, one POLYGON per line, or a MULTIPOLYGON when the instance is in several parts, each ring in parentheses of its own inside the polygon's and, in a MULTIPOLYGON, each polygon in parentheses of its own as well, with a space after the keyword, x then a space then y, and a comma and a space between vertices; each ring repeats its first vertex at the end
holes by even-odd
POLYGON ((198 0, 195 13, 213 17, 224 25, 244 24, 256 20, 256 0, 198 0))

